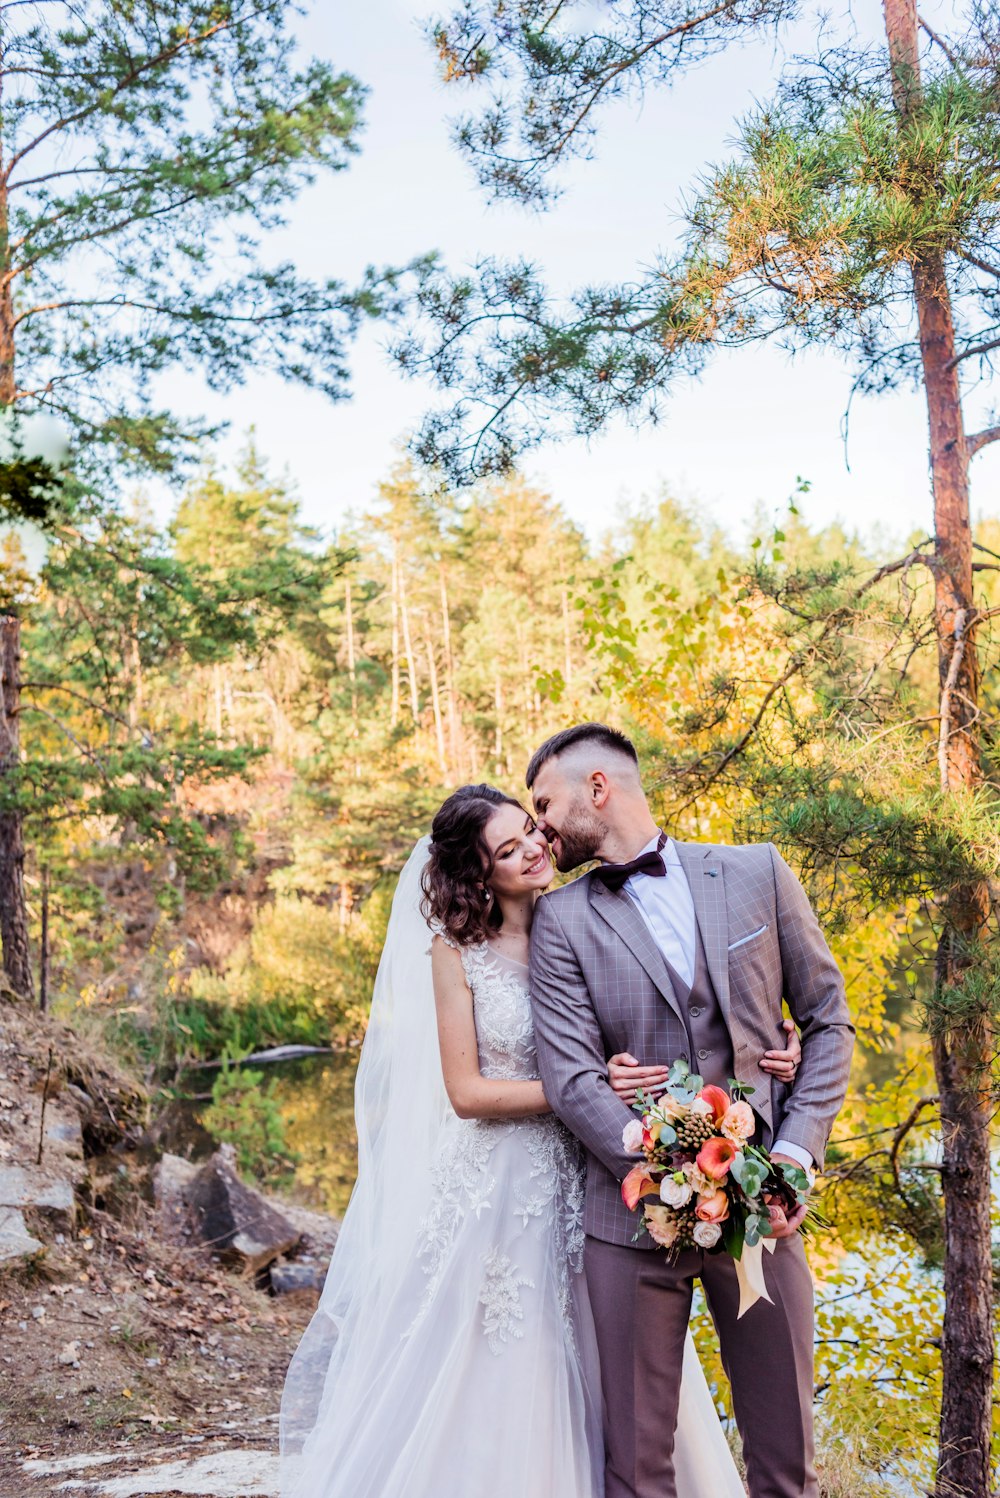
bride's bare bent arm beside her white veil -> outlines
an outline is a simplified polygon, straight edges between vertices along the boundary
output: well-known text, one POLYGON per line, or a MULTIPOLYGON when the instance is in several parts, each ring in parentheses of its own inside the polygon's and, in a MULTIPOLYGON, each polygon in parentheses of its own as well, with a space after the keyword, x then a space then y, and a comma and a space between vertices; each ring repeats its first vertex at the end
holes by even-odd
POLYGON ((440 936, 431 947, 437 1040, 451 1106, 460 1119, 519 1119, 551 1113, 540 1082, 500 1082, 479 1071, 479 1044, 461 957, 440 936))

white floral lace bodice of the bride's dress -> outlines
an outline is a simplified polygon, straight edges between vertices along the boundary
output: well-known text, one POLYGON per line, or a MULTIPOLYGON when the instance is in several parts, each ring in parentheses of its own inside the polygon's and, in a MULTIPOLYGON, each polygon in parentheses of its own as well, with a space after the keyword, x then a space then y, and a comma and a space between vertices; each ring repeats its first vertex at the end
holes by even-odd
POLYGON ((504 1082, 536 1082, 528 969, 488 942, 463 947, 461 962, 472 989, 481 1073, 504 1082))

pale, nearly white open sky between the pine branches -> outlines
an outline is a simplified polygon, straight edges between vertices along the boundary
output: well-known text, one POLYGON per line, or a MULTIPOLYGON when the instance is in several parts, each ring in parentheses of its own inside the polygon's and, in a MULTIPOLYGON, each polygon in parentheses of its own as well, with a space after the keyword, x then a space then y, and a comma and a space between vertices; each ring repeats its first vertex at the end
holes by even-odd
MULTIPOLYGON (((843 0, 838 0, 843 3, 843 0)), ((814 9, 810 6, 814 15, 814 9)), ((928 18, 942 16, 942 4, 928 18)), ((323 177, 292 208, 287 231, 266 258, 292 258, 305 274, 350 283, 367 264, 401 264, 439 250, 454 270, 488 253, 525 255, 555 288, 624 280, 669 246, 684 192, 705 165, 726 153, 734 120, 771 91, 784 55, 811 51, 804 28, 729 52, 672 91, 650 91, 642 106, 612 105, 603 115, 597 157, 573 166, 567 190, 545 214, 490 207, 454 151, 448 120, 461 96, 439 84, 436 58, 421 34, 416 0, 310 0, 304 46, 356 73, 368 87, 361 154, 347 172, 323 177)), ((843 6, 835 28, 877 34, 880 4, 843 6)), ((946 24, 943 21, 942 24, 946 24)), ((254 379, 222 398, 190 376, 166 382, 180 409, 228 419, 231 457, 249 425, 262 452, 286 469, 304 518, 323 530, 370 503, 433 392, 391 364, 385 333, 367 334, 353 357, 353 398, 326 398, 254 379)), ((620 502, 668 484, 735 535, 759 503, 781 509, 798 475, 811 481, 807 518, 843 520, 891 535, 931 529, 922 397, 898 391, 855 398, 849 437, 843 416, 852 372, 832 355, 790 361, 777 349, 722 354, 708 373, 671 397, 662 424, 609 428, 531 452, 525 472, 548 488, 593 536, 620 502)), ((973 395, 970 428, 988 403, 973 395)), ((973 466, 979 514, 1000 514, 1000 443, 973 466)))

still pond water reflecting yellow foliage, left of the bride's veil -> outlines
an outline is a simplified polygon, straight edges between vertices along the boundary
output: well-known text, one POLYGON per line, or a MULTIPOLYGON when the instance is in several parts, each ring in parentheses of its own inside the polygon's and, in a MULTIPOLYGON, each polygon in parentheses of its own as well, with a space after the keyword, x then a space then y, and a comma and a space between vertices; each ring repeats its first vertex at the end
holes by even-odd
MULTIPOLYGON (((253 1068, 274 1083, 289 1149, 298 1156, 281 1185, 304 1206, 343 1216, 358 1170, 355 1132, 355 1073, 359 1052, 332 1056, 298 1056, 253 1068)), ((183 1073, 174 1085, 177 1098, 157 1122, 162 1149, 189 1159, 207 1159, 216 1147, 198 1122, 208 1107, 217 1073, 183 1073)))

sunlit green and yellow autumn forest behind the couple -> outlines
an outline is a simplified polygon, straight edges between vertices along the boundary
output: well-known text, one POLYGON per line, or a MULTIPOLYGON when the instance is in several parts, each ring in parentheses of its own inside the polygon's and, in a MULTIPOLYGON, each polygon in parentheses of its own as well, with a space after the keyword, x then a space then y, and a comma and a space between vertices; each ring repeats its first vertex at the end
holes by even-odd
MULTIPOLYGON (((760 512, 740 548, 665 491, 588 544, 518 476, 454 491, 400 460, 320 538, 250 440, 237 473, 205 467, 169 527, 136 499, 84 547, 57 539, 24 635, 33 941, 45 918, 48 1002, 159 1079, 162 1104, 192 1061, 350 1047, 395 872, 448 789, 487 779, 522 795, 549 731, 621 724, 677 834, 775 836, 796 858, 844 969, 861 1044, 825 1189, 835 1225, 814 1246, 817 1383, 826 1461, 855 1473, 843 1492, 892 1492, 882 1483, 930 1471, 939 1398, 930 912, 900 872, 873 905, 850 833, 832 878, 810 869, 816 807, 805 780, 801 801, 774 804, 774 764, 804 756, 829 782, 835 752, 844 801, 867 779, 886 839, 895 818, 894 857, 913 857, 909 750, 891 746, 931 716, 930 584, 910 577, 900 611, 889 572, 852 616, 853 646, 820 652, 819 679, 790 677, 768 743, 693 798, 692 750, 719 742, 719 703, 750 724, 801 649, 796 598, 819 589, 829 610, 919 539, 874 551, 805 526, 795 497, 783 511, 780 527, 760 512), (906 716, 876 731, 876 759, 852 730, 859 676, 864 700, 913 655, 906 716)), ((1000 553, 1000 521, 978 541, 1000 553)), ((1000 601, 993 574, 984 590, 1000 601)), ((996 712, 996 667, 985 691, 996 712)), ((301 1103, 281 1110, 246 1076, 223 1074, 208 1122, 287 1185, 301 1103)), ((341 1134, 298 1180, 323 1201, 350 1124, 341 1110, 311 1126, 341 1134)), ((705 1321, 701 1335, 719 1378, 705 1321)))

